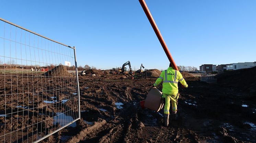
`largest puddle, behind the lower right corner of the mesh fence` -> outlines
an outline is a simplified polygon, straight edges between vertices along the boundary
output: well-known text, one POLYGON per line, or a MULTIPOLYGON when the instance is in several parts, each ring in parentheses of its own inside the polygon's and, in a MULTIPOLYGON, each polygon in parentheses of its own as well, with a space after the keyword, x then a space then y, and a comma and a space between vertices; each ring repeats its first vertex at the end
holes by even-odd
MULTIPOLYGON (((53 118, 53 124, 55 125, 59 123, 61 127, 64 125, 67 125, 68 123, 74 120, 71 116, 67 116, 61 112, 57 112, 56 115, 57 116, 53 118)), ((69 127, 76 127, 76 126, 77 126, 77 123, 75 122, 69 125, 69 127)))

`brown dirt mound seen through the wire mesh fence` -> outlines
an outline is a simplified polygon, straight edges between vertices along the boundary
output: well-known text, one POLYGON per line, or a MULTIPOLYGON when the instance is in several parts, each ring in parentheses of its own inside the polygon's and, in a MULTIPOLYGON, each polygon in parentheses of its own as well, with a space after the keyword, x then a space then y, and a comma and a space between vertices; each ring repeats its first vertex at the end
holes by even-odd
POLYGON ((67 67, 63 65, 59 65, 50 71, 45 72, 42 74, 43 76, 72 76, 71 73, 67 71, 67 67))

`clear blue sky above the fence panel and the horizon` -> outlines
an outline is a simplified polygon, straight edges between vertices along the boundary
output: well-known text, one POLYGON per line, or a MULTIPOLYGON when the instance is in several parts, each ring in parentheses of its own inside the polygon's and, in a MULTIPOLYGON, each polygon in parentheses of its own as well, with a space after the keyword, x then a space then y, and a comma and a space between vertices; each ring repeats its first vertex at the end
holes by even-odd
MULTIPOLYGON (((146 0, 176 65, 256 61, 255 0, 146 0)), ((1 18, 76 46, 78 65, 166 69, 138 0, 1 1, 1 18)), ((136 70, 135 69, 135 70, 136 70)))

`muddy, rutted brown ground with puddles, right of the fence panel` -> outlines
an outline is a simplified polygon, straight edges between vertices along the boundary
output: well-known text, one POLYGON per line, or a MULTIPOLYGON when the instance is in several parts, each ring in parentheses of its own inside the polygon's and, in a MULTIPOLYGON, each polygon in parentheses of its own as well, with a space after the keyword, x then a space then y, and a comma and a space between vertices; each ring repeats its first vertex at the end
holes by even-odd
POLYGON ((80 76, 81 120, 43 142, 256 142, 255 94, 185 78, 178 120, 164 127, 163 110, 139 104, 156 78, 118 76, 80 76))

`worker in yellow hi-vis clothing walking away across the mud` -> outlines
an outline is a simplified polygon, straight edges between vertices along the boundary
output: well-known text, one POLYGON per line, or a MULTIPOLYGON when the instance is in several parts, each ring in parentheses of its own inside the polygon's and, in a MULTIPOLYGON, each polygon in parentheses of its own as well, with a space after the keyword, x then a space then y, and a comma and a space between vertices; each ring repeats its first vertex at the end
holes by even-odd
POLYGON ((167 70, 162 71, 161 75, 155 81, 152 87, 158 86, 163 81, 163 98, 165 100, 164 105, 164 119, 165 119, 165 126, 169 124, 169 115, 170 115, 170 101, 172 101, 172 118, 177 120, 177 104, 178 104, 178 82, 181 82, 182 86, 187 88, 188 85, 182 74, 173 69, 171 63, 167 70))

